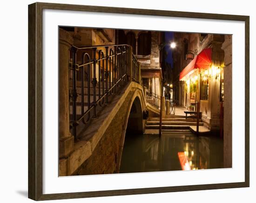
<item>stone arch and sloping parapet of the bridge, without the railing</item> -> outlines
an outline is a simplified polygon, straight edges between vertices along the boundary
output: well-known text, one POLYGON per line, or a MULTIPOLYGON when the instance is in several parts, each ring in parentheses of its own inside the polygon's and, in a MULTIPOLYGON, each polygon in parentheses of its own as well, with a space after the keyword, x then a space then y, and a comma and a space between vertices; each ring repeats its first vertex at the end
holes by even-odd
POLYGON ((146 109, 155 113, 158 110, 147 104, 140 84, 127 82, 74 143, 73 152, 60 159, 59 175, 119 172, 125 134, 144 132, 143 111, 146 109))

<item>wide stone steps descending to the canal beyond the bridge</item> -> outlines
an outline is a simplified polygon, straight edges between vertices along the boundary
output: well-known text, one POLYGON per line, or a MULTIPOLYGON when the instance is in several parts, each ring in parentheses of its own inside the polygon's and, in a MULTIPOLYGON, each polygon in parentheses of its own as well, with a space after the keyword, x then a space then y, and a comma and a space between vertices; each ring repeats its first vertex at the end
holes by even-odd
MULTIPOLYGON (((162 118, 162 129, 168 130, 189 130, 190 126, 196 126, 195 118, 187 118, 183 115, 169 115, 168 118, 162 118)), ((199 120, 199 126, 203 126, 202 120, 199 120)), ((159 129, 159 118, 149 118, 146 129, 159 129)))

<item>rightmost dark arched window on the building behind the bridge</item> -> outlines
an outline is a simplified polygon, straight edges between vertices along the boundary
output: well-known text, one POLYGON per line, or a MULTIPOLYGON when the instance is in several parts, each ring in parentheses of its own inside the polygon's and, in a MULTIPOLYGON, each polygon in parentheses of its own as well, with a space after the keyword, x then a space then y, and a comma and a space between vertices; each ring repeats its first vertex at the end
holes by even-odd
POLYGON ((138 38, 138 55, 151 53, 151 32, 142 32, 138 38))

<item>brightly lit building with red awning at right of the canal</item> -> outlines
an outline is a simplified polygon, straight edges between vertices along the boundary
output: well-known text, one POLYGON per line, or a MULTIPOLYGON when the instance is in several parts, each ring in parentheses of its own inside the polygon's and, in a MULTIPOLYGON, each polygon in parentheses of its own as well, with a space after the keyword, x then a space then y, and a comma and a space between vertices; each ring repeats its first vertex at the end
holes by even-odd
POLYGON ((210 130, 223 129, 224 81, 225 76, 231 76, 229 72, 224 74, 224 57, 232 52, 223 49, 222 44, 231 46, 231 36, 199 33, 175 33, 174 36, 176 102, 192 111, 199 105, 204 126, 210 130))

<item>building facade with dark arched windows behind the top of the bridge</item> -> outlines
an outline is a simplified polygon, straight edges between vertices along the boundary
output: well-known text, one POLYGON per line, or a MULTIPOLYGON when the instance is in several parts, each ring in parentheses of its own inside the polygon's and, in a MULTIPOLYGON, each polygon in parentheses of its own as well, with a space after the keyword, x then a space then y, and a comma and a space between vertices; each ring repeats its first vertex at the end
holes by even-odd
POLYGON ((161 95, 162 51, 159 44, 163 32, 116 30, 116 43, 132 46, 133 53, 141 63, 141 82, 150 92, 161 95))

